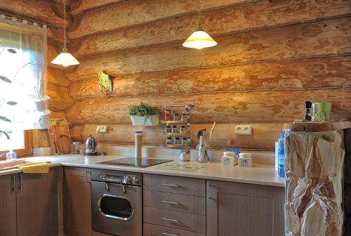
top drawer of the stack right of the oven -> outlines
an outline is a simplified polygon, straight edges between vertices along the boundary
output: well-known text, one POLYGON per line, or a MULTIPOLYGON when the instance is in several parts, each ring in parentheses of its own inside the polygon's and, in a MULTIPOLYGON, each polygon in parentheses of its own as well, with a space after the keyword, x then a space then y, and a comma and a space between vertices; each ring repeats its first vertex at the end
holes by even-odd
MULTIPOLYGON (((206 181, 204 179, 159 175, 150 176, 151 190, 206 197, 206 181)), ((145 186, 150 186, 150 184, 146 183, 145 186)))

